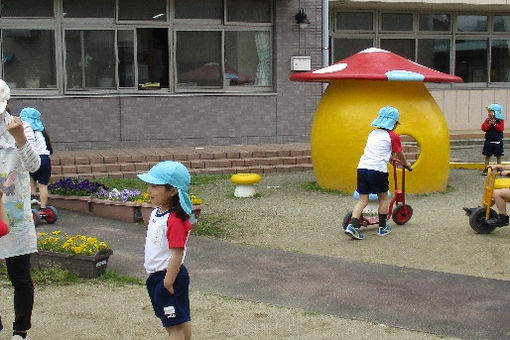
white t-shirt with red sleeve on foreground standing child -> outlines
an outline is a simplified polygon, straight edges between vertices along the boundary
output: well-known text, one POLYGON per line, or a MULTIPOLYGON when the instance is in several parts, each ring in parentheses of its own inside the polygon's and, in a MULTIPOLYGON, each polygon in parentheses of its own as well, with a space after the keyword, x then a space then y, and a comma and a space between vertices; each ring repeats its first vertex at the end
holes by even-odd
POLYGON ((159 209, 154 209, 145 239, 145 271, 151 274, 166 270, 172 256, 171 248, 184 249, 181 264, 184 263, 190 231, 189 221, 181 220, 175 212, 160 213, 159 209))

